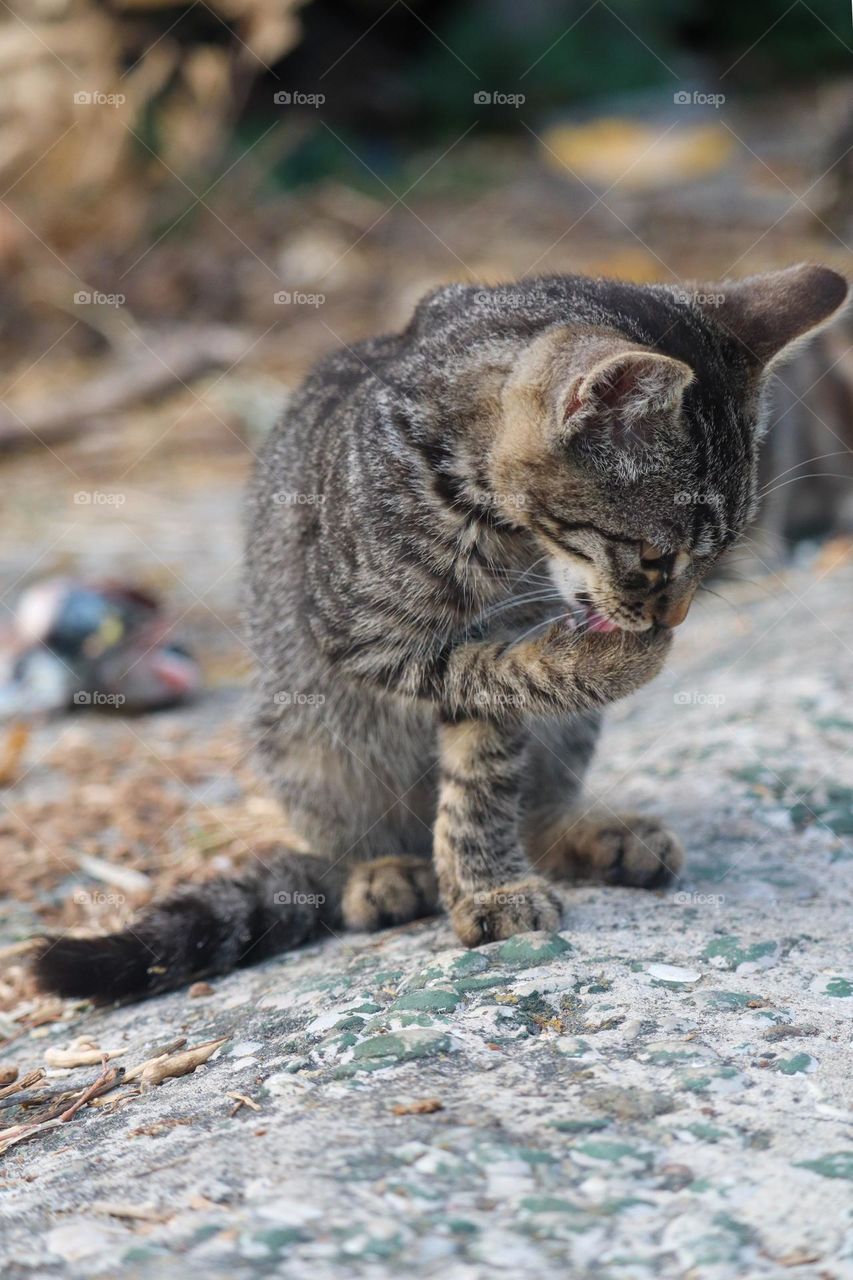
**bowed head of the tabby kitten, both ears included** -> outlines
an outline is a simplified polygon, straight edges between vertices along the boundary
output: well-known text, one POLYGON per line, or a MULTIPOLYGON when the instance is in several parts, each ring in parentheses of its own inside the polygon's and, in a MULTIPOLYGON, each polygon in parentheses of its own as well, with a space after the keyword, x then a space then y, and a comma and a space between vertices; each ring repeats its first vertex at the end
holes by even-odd
POLYGON ((588 622, 678 626, 754 513, 767 372, 847 282, 800 265, 692 292, 599 289, 597 323, 548 329, 514 366, 491 483, 588 622))

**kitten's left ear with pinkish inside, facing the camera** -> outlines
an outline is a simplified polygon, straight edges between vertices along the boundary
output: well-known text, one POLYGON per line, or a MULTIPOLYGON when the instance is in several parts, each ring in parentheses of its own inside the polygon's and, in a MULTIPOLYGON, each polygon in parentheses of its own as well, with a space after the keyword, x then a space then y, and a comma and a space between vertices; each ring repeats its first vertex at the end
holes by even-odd
POLYGON ((654 351, 616 352, 573 380, 564 401, 569 434, 596 426, 620 447, 649 444, 681 403, 693 370, 654 351))

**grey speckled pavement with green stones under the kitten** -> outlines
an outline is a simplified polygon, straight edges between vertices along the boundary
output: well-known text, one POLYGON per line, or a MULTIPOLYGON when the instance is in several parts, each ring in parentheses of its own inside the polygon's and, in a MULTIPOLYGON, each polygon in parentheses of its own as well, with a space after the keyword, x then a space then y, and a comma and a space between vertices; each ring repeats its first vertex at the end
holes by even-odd
POLYGON ((615 709, 590 792, 669 817, 674 890, 570 890, 560 933, 479 951, 328 937, 50 1027, 127 1065, 229 1041, 9 1149, 1 1274, 853 1276, 852 599, 849 557, 708 598, 615 709))

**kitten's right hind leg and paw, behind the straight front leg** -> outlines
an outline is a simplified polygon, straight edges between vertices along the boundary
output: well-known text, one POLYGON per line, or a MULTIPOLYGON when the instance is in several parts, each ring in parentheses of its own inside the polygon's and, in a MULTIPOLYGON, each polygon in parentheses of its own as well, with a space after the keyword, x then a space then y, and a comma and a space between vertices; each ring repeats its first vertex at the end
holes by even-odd
POLYGON ((581 794, 599 717, 537 722, 524 841, 530 863, 553 879, 660 888, 678 874, 684 851, 671 831, 646 814, 622 813, 581 794))

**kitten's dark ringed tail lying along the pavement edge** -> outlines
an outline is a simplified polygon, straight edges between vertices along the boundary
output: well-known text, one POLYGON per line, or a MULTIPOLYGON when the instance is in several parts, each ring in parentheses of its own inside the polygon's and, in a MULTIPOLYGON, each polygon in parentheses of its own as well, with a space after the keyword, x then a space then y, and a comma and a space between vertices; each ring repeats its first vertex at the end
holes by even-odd
POLYGON ((33 970, 59 996, 122 1000, 181 987, 334 931, 341 874, 310 854, 279 851, 257 874, 193 884, 146 908, 118 933, 47 937, 33 970))

